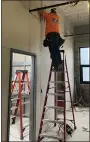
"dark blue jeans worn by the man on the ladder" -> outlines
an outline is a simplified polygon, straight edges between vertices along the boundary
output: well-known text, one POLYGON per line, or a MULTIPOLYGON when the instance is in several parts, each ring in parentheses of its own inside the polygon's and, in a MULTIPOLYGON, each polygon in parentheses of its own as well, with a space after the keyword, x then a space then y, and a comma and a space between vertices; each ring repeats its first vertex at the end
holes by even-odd
POLYGON ((56 70, 58 70, 58 66, 61 63, 61 54, 59 47, 64 43, 64 40, 61 39, 59 33, 49 33, 46 38, 48 40, 48 47, 52 59, 52 65, 56 70))

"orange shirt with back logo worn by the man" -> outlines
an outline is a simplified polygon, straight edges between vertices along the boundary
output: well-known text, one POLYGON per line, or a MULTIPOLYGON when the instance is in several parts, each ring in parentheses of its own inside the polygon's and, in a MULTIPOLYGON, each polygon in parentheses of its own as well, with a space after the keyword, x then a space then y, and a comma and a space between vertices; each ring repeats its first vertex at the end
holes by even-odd
POLYGON ((54 13, 47 13, 43 11, 41 13, 41 16, 46 21, 46 29, 45 29, 45 35, 51 32, 59 33, 59 22, 60 17, 54 13))

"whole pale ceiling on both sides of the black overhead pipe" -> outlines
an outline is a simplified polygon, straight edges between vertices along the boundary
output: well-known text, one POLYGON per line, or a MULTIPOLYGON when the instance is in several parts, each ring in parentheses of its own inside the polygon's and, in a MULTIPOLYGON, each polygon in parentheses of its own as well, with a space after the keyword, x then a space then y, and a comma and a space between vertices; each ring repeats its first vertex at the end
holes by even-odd
MULTIPOLYGON (((71 0, 70 0, 71 1, 71 0)), ((28 9, 39 8, 42 6, 49 6, 54 4, 60 4, 66 2, 65 0, 62 1, 55 1, 55 0, 44 0, 44 1, 23 1, 23 4, 28 9)), ((89 24, 89 3, 88 1, 79 2, 77 5, 73 6, 72 4, 60 6, 58 7, 68 20, 74 26, 80 26, 89 24)))

